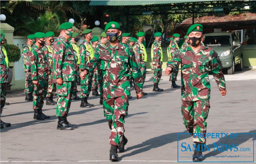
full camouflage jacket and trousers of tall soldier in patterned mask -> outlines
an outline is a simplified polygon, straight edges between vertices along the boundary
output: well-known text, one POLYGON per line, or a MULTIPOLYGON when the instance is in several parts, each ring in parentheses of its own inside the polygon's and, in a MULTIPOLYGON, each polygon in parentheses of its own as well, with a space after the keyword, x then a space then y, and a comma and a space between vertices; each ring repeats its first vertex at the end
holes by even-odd
POLYGON ((53 44, 53 59, 54 82, 57 78, 63 80, 61 86, 56 85, 58 94, 56 116, 64 117, 68 115, 74 94, 75 81, 77 80, 77 62, 72 46, 62 35, 59 35, 53 44))

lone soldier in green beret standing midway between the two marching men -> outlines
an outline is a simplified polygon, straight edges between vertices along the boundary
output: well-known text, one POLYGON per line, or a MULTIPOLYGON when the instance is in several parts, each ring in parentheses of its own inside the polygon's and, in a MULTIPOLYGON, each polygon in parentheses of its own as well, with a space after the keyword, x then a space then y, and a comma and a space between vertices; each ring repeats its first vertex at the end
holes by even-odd
POLYGON ((160 41, 162 40, 162 34, 160 32, 154 33, 155 41, 151 47, 151 59, 154 67, 154 88, 153 91, 161 92, 163 89, 158 88, 158 83, 162 76, 162 63, 163 63, 163 51, 160 41))

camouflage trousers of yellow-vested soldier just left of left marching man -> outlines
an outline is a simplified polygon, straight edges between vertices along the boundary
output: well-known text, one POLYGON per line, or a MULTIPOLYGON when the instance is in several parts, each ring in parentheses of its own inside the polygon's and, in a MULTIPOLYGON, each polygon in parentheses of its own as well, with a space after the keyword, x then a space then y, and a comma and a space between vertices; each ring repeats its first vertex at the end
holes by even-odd
POLYGON ((91 91, 91 85, 93 83, 93 72, 90 72, 84 80, 81 79, 81 94, 80 98, 88 98, 90 91, 91 91))

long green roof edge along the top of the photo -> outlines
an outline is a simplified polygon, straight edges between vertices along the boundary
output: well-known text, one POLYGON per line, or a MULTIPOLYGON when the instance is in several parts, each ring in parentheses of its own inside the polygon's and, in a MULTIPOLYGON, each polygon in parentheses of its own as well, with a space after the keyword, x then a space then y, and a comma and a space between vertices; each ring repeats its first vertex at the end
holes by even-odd
MULTIPOLYGON (((161 0, 148 0, 148 1, 97 1, 93 0, 89 5, 91 6, 131 6, 131 5, 154 5, 154 4, 171 4, 171 3, 186 3, 186 2, 205 2, 205 0, 181 0, 181 1, 161 1, 161 0)), ((208 0, 209 1, 209 0, 208 0)))

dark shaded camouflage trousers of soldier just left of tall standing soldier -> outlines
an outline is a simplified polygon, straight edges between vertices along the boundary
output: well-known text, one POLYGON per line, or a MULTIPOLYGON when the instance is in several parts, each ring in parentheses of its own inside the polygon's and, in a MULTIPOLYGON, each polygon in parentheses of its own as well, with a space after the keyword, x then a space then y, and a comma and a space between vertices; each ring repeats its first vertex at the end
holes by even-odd
POLYGON ((38 84, 34 85, 33 109, 42 109, 44 106, 44 96, 47 93, 48 79, 38 80, 38 84))

